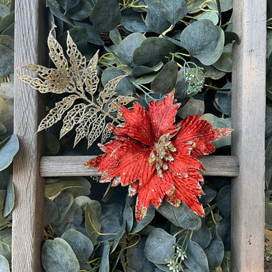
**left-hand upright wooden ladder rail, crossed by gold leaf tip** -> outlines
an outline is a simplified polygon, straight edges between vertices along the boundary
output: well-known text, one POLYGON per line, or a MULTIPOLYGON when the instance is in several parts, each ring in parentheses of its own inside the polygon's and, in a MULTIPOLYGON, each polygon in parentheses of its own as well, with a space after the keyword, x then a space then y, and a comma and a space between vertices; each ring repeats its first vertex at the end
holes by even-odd
MULTIPOLYGON (((39 63, 38 52, 44 52, 43 1, 15 1, 15 69, 39 63), (39 39, 38 36, 42 37, 39 39)), ((15 208, 13 210, 13 272, 39 272, 40 242, 43 238, 44 182, 39 177, 41 153, 40 99, 15 76, 14 133, 20 140, 20 151, 13 164, 15 208), (39 109, 40 108, 40 109, 39 109)))

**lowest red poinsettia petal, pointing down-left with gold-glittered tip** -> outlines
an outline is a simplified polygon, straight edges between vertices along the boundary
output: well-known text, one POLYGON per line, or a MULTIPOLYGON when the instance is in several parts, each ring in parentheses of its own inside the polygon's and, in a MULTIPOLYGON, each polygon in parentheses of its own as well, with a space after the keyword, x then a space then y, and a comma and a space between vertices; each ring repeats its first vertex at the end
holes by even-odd
POLYGON ((149 182, 139 186, 137 190, 137 202, 135 209, 135 217, 139 222, 146 216, 146 212, 149 209, 149 204, 152 203, 156 208, 160 206, 163 198, 172 190, 173 181, 168 178, 160 178, 158 174, 154 174, 149 182))

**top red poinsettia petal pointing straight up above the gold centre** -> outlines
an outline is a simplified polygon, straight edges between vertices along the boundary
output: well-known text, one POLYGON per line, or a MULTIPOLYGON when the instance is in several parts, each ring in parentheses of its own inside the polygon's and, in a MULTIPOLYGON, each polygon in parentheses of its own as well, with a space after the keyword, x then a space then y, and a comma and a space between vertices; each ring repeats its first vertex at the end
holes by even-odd
POLYGON ((149 116, 155 142, 158 142, 160 136, 164 134, 175 135, 178 130, 178 125, 174 125, 174 121, 179 104, 173 104, 173 100, 172 91, 161 102, 152 100, 149 103, 149 116))

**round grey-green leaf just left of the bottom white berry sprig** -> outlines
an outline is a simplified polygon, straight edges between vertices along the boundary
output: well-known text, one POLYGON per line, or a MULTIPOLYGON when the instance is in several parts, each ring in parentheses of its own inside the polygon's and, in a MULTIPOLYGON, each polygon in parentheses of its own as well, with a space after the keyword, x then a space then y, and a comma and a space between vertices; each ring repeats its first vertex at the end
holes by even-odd
POLYGON ((165 259, 168 259, 174 254, 173 244, 176 238, 165 230, 156 228, 149 234, 144 246, 144 255, 150 262, 156 264, 165 264, 165 259))

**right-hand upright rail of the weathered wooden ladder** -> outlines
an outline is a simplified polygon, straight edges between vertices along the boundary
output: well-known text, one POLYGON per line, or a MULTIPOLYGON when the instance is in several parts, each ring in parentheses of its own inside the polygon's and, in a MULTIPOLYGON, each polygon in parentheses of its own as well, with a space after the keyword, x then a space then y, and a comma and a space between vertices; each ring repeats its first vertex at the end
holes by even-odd
POLYGON ((264 271, 264 129, 266 0, 234 0, 232 155, 232 271, 264 271))

